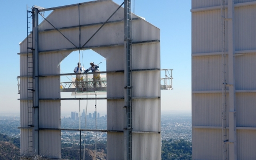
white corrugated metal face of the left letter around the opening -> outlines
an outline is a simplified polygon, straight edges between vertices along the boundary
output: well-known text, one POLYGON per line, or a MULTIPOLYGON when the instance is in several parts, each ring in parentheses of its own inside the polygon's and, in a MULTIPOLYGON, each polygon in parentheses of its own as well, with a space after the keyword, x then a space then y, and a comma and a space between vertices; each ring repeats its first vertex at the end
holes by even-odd
MULTIPOLYGON (((118 5, 112 1, 86 4, 80 7, 81 25, 104 22, 109 15, 117 9, 118 5)), ((133 15, 136 17, 136 15, 133 15)), ((123 9, 119 10, 110 21, 124 18, 123 9)), ((78 6, 67 7, 65 9, 54 10, 47 18, 55 27, 69 27, 78 25, 78 6), (68 19, 67 19, 68 18, 68 19)), ((100 27, 87 26, 81 28, 81 44, 100 27)), ((51 29, 48 22, 44 21, 39 30, 51 29)), ((145 20, 137 20, 132 23, 133 42, 159 40, 159 28, 151 25, 145 20)), ((79 44, 79 29, 61 30, 66 37, 76 46, 79 44)), ((124 44, 123 22, 106 24, 86 46, 99 46, 110 44, 124 44)), ((42 31, 39 33, 39 51, 49 51, 54 49, 67 49, 74 47, 58 31, 42 31)), ((20 46, 20 50, 27 52, 25 41, 20 46)), ((107 70, 125 69, 125 49, 124 46, 113 46, 94 49, 107 60, 107 70)), ((59 62, 61 62, 71 51, 47 52, 39 54, 39 75, 59 74, 59 62)), ((159 42, 133 45, 133 66, 132 69, 160 68, 160 44, 159 42)), ((27 74, 26 57, 21 55, 21 74, 27 74), (25 66, 25 67, 23 67, 25 66)), ((124 97, 124 74, 108 74, 107 97, 124 97)), ((160 97, 160 71, 138 71, 133 73, 133 97, 160 97)), ((26 84, 22 78, 23 89, 26 84), (24 84, 23 84, 24 83, 24 84)), ((39 99, 60 98, 60 77, 39 77, 39 99)), ((25 89, 26 90, 26 89, 25 89)), ((23 92, 23 91, 21 91, 23 92)), ((23 93, 26 95, 26 92, 23 93)), ((134 100, 133 117, 134 129, 139 131, 161 131, 161 100, 134 100), (135 122, 137 121, 141 122, 135 122), (145 121, 145 122, 144 122, 145 121)), ((107 100, 107 115, 109 130, 123 130, 125 124, 124 100, 107 100), (124 121, 122 121, 122 119, 124 121)), ((22 123, 26 125, 27 117, 26 101, 21 102, 22 123), (22 107, 24 106, 24 107, 22 107)), ((39 102, 39 127, 60 127, 60 101, 40 101, 39 102)), ((24 135, 22 142, 26 143, 24 135)), ((133 134, 133 159, 161 159, 161 134, 133 134), (142 151, 141 148, 143 148, 142 151)), ((60 158, 60 131, 40 131, 39 132, 40 154, 50 158, 60 158)), ((123 133, 108 133, 108 159, 124 158, 124 135, 123 133)), ((22 144, 24 145, 24 144, 22 144)), ((26 144, 25 144, 26 145, 26 144)), ((26 147, 26 146, 25 146, 26 147)))

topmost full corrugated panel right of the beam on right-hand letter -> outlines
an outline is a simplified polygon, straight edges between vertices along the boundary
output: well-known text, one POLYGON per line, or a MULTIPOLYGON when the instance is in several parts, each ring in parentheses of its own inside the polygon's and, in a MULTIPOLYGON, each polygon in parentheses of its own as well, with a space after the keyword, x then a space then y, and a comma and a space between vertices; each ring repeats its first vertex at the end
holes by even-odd
POLYGON ((235 8, 235 50, 256 49, 256 5, 235 8), (252 16, 248 16, 252 15, 252 16), (245 18, 246 17, 246 18, 245 18))

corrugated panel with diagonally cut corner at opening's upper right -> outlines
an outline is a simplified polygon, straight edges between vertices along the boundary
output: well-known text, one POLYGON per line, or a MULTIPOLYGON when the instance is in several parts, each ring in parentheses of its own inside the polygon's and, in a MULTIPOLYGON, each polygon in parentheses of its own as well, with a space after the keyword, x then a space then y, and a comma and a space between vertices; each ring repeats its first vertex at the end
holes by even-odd
POLYGON ((124 70, 124 46, 99 47, 92 50, 106 58, 107 71, 124 70))

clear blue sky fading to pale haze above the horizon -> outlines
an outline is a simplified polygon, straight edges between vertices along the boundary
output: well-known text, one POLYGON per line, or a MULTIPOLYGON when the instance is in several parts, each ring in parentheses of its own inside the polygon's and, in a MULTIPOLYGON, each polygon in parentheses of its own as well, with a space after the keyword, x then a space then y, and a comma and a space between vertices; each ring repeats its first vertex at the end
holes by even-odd
MULTIPOLYGON (((19 68, 19 42, 27 36, 26 6, 42 6, 44 8, 87 2, 84 1, 2 1, 0 5, 0 115, 19 115, 20 98, 18 94, 17 76, 19 68)), ((122 4, 121 0, 114 0, 122 4)), ((171 111, 191 111, 191 1, 132 1, 132 12, 145 18, 148 22, 161 29, 161 69, 173 69, 173 90, 161 91, 162 114, 171 111)), ((49 15, 50 12, 45 12, 49 15)), ((89 62, 101 62, 100 69, 106 69, 106 61, 95 53, 95 58, 85 59, 86 54, 93 51, 83 51, 84 68, 89 68, 89 62)), ((94 53, 93 53, 94 54, 94 53)), ((81 54, 82 55, 82 54, 81 54)), ((61 63, 63 73, 73 73, 78 61, 77 52, 71 53, 61 63)), ((163 77, 163 75, 162 75, 163 77)), ((68 93, 69 95, 71 93, 68 93)), ((61 103, 63 114, 78 111, 79 102, 61 103), (67 105, 69 103, 69 105, 67 105), (76 109, 70 107, 76 105, 76 109)), ((103 114, 103 102, 98 111, 103 114)), ((94 108, 89 109, 89 113, 94 108)))

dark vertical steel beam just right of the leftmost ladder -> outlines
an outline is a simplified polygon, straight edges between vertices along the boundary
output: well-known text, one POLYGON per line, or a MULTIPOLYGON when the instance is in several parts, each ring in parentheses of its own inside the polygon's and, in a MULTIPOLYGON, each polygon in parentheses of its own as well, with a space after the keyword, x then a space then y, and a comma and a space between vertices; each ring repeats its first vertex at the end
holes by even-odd
POLYGON ((38 9, 33 7, 33 154, 39 155, 38 109, 38 9))

